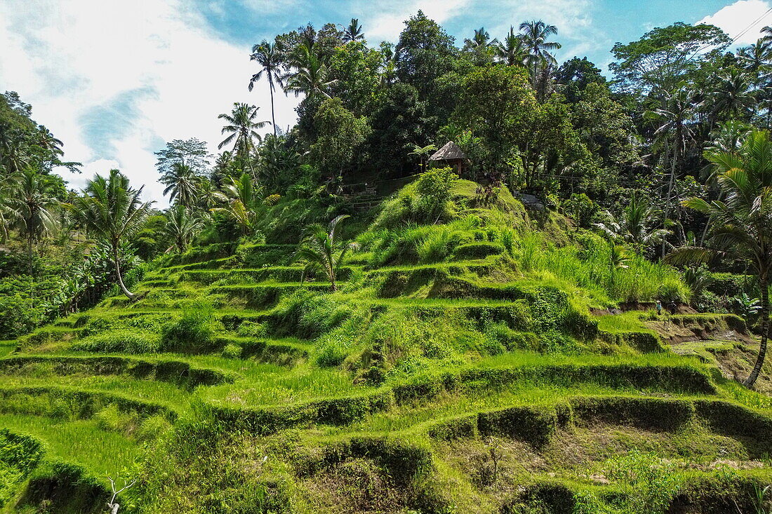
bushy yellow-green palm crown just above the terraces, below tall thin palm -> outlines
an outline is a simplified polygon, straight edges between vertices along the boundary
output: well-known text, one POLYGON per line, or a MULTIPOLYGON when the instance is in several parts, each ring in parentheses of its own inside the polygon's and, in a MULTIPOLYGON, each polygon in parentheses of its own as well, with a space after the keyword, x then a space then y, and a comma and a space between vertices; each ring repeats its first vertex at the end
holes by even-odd
POLYGON ((253 234, 266 208, 279 201, 278 194, 266 196, 263 189, 255 185, 252 177, 245 173, 239 178, 231 178, 230 184, 225 186, 225 193, 215 196, 219 201, 227 202, 228 207, 214 208, 212 211, 231 217, 245 235, 253 234))

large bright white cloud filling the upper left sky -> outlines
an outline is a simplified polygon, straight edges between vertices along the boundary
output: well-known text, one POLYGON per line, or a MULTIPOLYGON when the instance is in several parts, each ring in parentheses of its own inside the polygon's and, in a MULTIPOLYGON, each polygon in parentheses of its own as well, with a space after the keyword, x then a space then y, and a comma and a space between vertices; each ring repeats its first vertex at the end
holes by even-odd
MULTIPOLYGON (((74 185, 119 167, 165 205, 152 154, 164 141, 198 137, 214 153, 221 140, 217 115, 233 102, 253 103, 262 119, 270 119, 267 86, 258 84, 252 93, 246 88, 256 66, 249 48, 215 36, 185 5, 0 2, 0 87, 32 103, 35 119, 64 141, 67 160, 86 164, 83 175, 64 173, 74 185), (120 99, 130 101, 114 107, 120 99), (102 127, 108 132, 96 139, 109 144, 96 147, 93 132, 102 127)), ((276 96, 280 127, 294 123, 296 103, 276 96)))

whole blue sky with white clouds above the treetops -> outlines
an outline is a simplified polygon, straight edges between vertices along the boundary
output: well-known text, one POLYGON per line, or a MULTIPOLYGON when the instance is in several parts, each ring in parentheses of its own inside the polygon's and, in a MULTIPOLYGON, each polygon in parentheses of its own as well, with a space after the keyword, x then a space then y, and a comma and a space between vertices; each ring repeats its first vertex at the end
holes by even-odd
MULTIPOLYGON (((153 151, 198 137, 214 153, 219 113, 234 102, 258 105, 269 119, 267 86, 247 91, 249 50, 306 22, 358 18, 371 43, 396 41, 421 8, 462 42, 484 26, 543 19, 557 25, 558 59, 587 56, 605 69, 611 46, 672 22, 712 22, 730 36, 763 15, 772 0, 2 0, 0 89, 18 91, 33 115, 65 142, 65 157, 85 164, 74 187, 118 167, 147 198, 167 202, 153 151)), ((738 44, 753 42, 772 13, 738 44)), ((294 123, 297 99, 279 95, 277 122, 294 123)))

